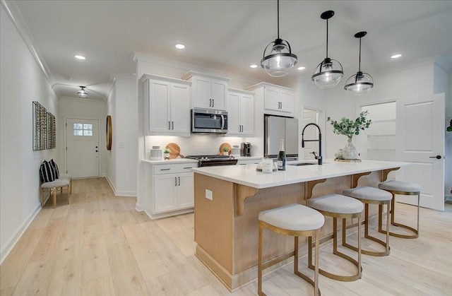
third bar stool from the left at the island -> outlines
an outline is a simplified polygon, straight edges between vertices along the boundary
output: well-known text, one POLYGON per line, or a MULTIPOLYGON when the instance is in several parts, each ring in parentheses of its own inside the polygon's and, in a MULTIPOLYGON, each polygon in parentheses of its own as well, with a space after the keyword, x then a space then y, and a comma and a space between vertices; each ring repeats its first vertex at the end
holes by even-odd
MULTIPOLYGON (((386 227, 386 242, 383 242, 376 237, 372 237, 369 235, 369 204, 377 204, 379 205, 379 231, 382 230, 382 222, 383 222, 383 205, 386 205, 386 225, 389 225, 389 211, 391 200, 393 199, 392 194, 388 191, 381 190, 374 187, 355 187, 352 189, 345 189, 343 191, 345 196, 350 196, 354 199, 359 199, 362 203, 364 203, 364 237, 370 239, 378 244, 381 244, 385 247, 385 251, 369 251, 365 249, 361 249, 362 254, 371 255, 371 256, 387 256, 390 253, 389 247, 389 227, 386 227)), ((350 248, 354 251, 357 251, 357 247, 354 247, 344 240, 344 246, 350 248)))

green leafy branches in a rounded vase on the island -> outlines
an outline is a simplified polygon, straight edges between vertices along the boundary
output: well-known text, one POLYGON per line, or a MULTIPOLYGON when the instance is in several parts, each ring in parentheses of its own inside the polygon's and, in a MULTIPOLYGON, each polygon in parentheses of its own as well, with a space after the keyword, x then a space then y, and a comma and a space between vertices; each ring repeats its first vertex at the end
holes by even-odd
POLYGON ((340 121, 335 121, 331 119, 331 117, 328 117, 326 119, 327 122, 330 122, 333 126, 333 133, 338 135, 344 135, 347 136, 348 141, 345 148, 339 150, 338 153, 336 153, 336 158, 343 158, 346 160, 355 160, 357 159, 358 153, 352 144, 352 138, 355 135, 359 135, 360 131, 364 131, 364 129, 368 129, 371 124, 371 119, 367 119, 367 114, 369 112, 363 111, 359 113, 359 116, 355 121, 348 119, 347 117, 343 117, 340 119, 340 121))

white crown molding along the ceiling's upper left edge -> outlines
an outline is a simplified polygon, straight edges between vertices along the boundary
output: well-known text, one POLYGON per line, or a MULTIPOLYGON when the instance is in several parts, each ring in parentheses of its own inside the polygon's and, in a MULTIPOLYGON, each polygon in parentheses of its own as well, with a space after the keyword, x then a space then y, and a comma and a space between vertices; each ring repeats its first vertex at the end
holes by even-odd
POLYGON ((44 73, 44 76, 47 78, 47 81, 49 81, 50 85, 54 85, 55 78, 52 73, 50 73, 49 66, 47 66, 44 59, 42 59, 42 55, 40 54, 39 49, 37 49, 35 40, 33 39, 30 30, 28 30, 28 25, 25 22, 20 9, 18 8, 16 1, 1 0, 1 6, 4 8, 6 14, 8 14, 9 18, 11 19, 11 22, 18 30, 20 37, 22 37, 23 42, 25 42, 25 45, 27 45, 28 50, 30 50, 30 53, 32 54, 32 57, 35 58, 38 66, 40 66, 40 69, 42 73, 44 73))

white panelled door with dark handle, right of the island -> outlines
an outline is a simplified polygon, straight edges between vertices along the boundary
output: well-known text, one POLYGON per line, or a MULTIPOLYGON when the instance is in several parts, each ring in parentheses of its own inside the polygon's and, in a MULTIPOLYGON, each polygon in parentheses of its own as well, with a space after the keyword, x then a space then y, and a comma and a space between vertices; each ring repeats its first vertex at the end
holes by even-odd
MULTIPOLYGON (((397 179, 419 184, 420 205, 439 211, 444 211, 444 117, 444 93, 397 101, 398 159, 412 164, 397 179)), ((417 203, 409 196, 397 199, 417 203)))

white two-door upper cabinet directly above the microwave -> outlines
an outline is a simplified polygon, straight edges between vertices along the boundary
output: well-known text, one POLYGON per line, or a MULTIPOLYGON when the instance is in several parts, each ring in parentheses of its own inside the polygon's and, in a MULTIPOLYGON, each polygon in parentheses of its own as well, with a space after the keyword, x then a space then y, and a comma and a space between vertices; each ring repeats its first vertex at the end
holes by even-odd
POLYGON ((226 110, 227 81, 230 78, 189 71, 182 79, 191 81, 191 107, 226 110))

